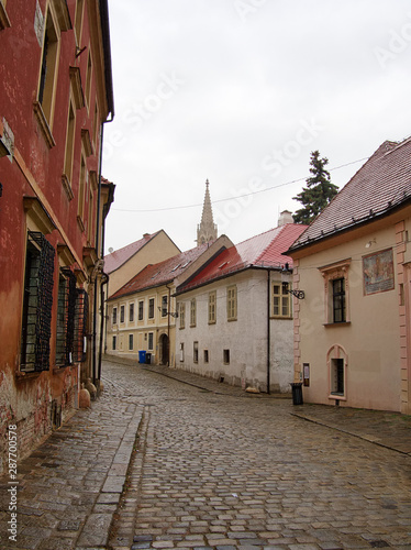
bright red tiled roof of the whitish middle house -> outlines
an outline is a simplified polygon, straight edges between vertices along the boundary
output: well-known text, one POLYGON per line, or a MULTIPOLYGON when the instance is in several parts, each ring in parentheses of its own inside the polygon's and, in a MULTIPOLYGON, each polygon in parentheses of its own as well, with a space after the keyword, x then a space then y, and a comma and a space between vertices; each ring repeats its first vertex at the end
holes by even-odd
POLYGON ((292 258, 285 256, 282 252, 289 249, 306 228, 307 226, 287 223, 231 246, 177 292, 186 292, 249 267, 279 270, 288 263, 292 268, 292 258))

